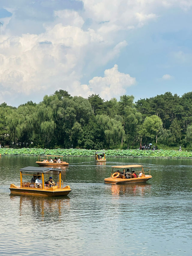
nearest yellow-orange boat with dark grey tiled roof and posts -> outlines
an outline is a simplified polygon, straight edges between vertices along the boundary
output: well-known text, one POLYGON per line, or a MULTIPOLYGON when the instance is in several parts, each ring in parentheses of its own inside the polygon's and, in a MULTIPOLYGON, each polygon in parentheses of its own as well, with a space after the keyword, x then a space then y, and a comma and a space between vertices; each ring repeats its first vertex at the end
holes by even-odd
POLYGON ((24 167, 20 169, 20 186, 16 186, 13 183, 10 185, 11 194, 23 194, 23 195, 34 195, 34 196, 44 196, 44 197, 55 197, 64 196, 69 194, 71 191, 70 186, 63 186, 63 181, 61 179, 61 169, 57 168, 46 168, 46 167, 24 167), (48 184, 44 183, 45 175, 58 176, 57 181, 54 181, 52 177, 49 179, 48 184), (40 182, 22 181, 22 178, 31 176, 30 178, 38 177, 40 182), (40 178, 42 177, 42 179, 40 178))

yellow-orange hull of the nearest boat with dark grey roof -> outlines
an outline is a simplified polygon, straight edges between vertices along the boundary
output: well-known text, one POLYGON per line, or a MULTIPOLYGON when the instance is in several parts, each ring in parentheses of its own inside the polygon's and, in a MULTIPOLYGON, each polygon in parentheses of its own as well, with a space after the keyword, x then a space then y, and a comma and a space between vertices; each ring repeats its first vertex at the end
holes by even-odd
POLYGON ((48 189, 42 188, 20 188, 14 184, 10 185, 11 194, 22 194, 30 196, 44 196, 44 197, 55 197, 55 196, 66 196, 70 193, 70 186, 58 189, 57 187, 51 187, 48 189))

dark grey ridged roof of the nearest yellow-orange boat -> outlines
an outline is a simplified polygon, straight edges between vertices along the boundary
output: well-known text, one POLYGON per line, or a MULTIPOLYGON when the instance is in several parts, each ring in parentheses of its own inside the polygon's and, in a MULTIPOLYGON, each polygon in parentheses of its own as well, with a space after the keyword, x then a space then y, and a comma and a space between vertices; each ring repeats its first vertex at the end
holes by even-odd
POLYGON ((21 168, 20 171, 22 172, 22 174, 29 174, 29 175, 33 175, 38 173, 44 173, 44 174, 59 174, 59 172, 61 172, 61 169, 58 168, 46 168, 46 167, 34 167, 34 166, 28 166, 28 167, 24 167, 21 168))

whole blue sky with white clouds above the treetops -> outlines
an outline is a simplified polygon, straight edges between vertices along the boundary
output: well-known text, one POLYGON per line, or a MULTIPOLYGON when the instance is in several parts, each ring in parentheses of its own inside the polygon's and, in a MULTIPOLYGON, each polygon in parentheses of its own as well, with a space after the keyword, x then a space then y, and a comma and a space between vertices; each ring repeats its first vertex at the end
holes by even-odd
POLYGON ((192 0, 0 0, 0 103, 191 89, 192 0))

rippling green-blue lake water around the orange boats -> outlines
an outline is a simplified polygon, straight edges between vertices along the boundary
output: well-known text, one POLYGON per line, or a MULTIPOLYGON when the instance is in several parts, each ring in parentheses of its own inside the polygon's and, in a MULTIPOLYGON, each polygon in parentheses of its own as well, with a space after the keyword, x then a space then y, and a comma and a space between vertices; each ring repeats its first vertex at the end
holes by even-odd
POLYGON ((10 195, 37 157, 0 158, 1 255, 192 255, 192 159, 67 157, 66 197, 10 195), (144 184, 105 184, 111 166, 142 164, 144 184))

